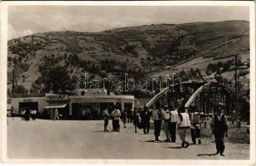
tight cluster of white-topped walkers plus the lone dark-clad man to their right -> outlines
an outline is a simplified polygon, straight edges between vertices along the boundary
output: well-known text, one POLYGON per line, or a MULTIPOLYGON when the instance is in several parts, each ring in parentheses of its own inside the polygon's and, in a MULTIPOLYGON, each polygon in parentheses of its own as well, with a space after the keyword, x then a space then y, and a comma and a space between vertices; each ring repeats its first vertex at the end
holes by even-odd
MULTIPOLYGON (((168 108, 164 106, 163 109, 157 103, 155 109, 153 110, 153 123, 154 123, 154 136, 155 141, 159 142, 158 137, 162 129, 166 135, 165 141, 175 142, 176 141, 176 128, 178 128, 178 134, 182 140, 182 147, 188 148, 190 145, 186 139, 188 131, 190 130, 191 139, 193 144, 201 144, 201 118, 200 113, 191 107, 190 113, 185 110, 185 107, 178 102, 177 109, 168 108), (170 109, 170 111, 168 110, 170 109)), ((224 155, 224 137, 228 137, 228 120, 224 115, 223 106, 218 105, 214 110, 213 118, 210 122, 212 133, 214 135, 216 144, 216 154, 224 155)))

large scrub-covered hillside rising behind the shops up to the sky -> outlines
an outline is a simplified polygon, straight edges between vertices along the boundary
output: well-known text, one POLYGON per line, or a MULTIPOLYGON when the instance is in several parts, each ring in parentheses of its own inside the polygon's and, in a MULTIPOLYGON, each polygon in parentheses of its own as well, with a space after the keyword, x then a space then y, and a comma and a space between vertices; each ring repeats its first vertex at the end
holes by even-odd
POLYGON ((8 83, 43 85, 43 72, 65 66, 68 76, 141 78, 198 57, 248 55, 249 22, 193 22, 123 27, 104 32, 47 32, 8 41, 8 83), (13 64, 13 65, 12 65, 13 64))

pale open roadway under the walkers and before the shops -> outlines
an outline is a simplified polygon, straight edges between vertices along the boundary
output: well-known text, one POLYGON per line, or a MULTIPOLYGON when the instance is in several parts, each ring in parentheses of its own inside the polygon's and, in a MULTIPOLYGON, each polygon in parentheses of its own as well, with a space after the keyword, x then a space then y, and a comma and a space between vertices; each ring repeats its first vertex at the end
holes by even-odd
POLYGON ((153 130, 135 134, 131 124, 120 133, 104 133, 99 120, 8 120, 9 159, 249 159, 248 144, 226 143, 222 157, 209 155, 215 144, 208 139, 187 149, 180 148, 180 139, 176 144, 153 139, 153 130))

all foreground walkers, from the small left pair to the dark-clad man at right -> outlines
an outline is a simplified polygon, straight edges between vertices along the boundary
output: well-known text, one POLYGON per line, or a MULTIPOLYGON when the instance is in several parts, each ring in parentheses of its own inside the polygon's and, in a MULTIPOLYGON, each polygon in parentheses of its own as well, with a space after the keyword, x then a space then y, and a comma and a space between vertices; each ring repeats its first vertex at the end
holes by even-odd
MULTIPOLYGON (((189 131, 191 134, 192 144, 201 144, 202 118, 200 116, 201 113, 199 113, 195 107, 191 107, 189 111, 186 111, 182 102, 178 101, 175 105, 175 109, 172 105, 170 107, 167 105, 161 106, 159 103, 156 103, 153 110, 149 110, 146 106, 141 111, 134 109, 132 118, 129 121, 133 122, 135 133, 138 132, 138 129, 143 129, 144 134, 149 134, 150 120, 152 118, 155 142, 160 142, 159 136, 163 129, 166 136, 164 141, 175 143, 176 131, 178 129, 178 134, 182 141, 181 147, 188 148, 190 145, 187 140, 189 131)), ((113 131, 119 132, 119 120, 123 121, 123 127, 126 128, 128 112, 122 111, 118 109, 117 105, 114 105, 113 108, 103 110, 103 119, 104 131, 108 131, 108 120, 112 119, 113 131)), ((215 139, 214 142, 217 149, 216 154, 224 155, 223 152, 225 146, 223 139, 224 136, 228 136, 228 120, 223 114, 222 105, 218 105, 216 110, 214 110, 210 126, 215 139)))

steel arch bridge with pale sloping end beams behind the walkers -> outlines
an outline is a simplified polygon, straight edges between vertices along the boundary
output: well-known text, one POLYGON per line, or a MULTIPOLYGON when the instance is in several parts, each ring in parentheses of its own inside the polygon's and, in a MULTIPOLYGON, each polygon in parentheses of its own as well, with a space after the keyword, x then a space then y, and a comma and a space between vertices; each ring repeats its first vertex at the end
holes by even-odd
POLYGON ((188 112, 197 110, 204 115, 213 114, 219 103, 222 103, 226 115, 230 115, 234 109, 232 92, 218 82, 185 82, 170 85, 154 95, 146 106, 153 107, 159 102, 160 105, 176 108, 178 100, 182 100, 188 112))

